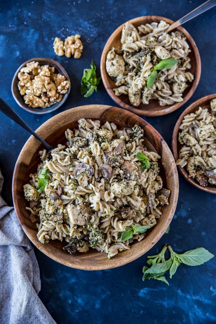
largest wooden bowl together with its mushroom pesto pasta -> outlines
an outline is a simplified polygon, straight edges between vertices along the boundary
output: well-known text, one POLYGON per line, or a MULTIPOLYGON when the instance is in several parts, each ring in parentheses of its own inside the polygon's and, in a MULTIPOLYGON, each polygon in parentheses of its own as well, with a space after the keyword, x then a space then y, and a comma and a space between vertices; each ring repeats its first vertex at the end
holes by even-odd
POLYGON ((30 137, 15 167, 13 199, 24 231, 42 252, 74 268, 101 270, 135 260, 158 241, 175 212, 178 178, 152 126, 119 108, 92 105, 52 117, 37 133, 46 133, 56 148, 47 153, 30 137), (143 170, 136 157, 141 152, 151 164, 143 170), (139 226, 149 227, 144 239, 136 231, 131 245, 120 239, 126 228, 139 226), (107 262, 106 254, 88 246, 114 257, 107 262))

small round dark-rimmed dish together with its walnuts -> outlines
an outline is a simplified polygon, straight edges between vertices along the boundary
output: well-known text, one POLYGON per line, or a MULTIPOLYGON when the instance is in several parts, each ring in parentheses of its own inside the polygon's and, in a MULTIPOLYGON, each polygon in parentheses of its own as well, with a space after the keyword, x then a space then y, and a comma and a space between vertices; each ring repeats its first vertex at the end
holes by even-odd
POLYGON ((35 57, 16 71, 11 91, 17 104, 33 114, 47 114, 58 109, 71 89, 70 78, 61 64, 35 57))

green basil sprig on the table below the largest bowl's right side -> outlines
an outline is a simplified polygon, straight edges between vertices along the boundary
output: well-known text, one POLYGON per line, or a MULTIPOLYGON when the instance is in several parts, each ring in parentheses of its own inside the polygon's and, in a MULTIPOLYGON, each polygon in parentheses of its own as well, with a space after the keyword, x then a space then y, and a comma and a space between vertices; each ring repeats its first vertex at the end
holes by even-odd
POLYGON ((167 280, 164 277, 164 274, 169 271, 170 279, 176 273, 176 270, 180 263, 184 263, 189 266, 201 265, 204 262, 209 261, 214 257, 212 253, 204 248, 197 248, 193 250, 189 250, 185 253, 178 254, 173 251, 171 246, 168 246, 170 251, 170 258, 165 260, 165 252, 167 246, 165 245, 160 253, 148 256, 149 259, 147 263, 151 265, 150 268, 144 266, 142 269, 143 277, 142 280, 145 279, 157 279, 165 282, 169 285, 167 280))

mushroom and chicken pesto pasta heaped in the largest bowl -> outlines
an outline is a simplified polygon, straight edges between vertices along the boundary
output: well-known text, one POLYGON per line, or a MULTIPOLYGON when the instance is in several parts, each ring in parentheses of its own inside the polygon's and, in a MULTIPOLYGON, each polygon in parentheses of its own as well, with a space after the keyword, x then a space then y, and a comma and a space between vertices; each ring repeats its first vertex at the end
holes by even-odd
POLYGON ((128 227, 156 225, 170 191, 159 175, 160 156, 147 150, 140 126, 78 123, 66 130, 67 145, 40 151, 37 172, 24 185, 26 208, 42 244, 65 240, 70 254, 94 248, 111 258, 145 236, 135 232, 121 240, 128 227))

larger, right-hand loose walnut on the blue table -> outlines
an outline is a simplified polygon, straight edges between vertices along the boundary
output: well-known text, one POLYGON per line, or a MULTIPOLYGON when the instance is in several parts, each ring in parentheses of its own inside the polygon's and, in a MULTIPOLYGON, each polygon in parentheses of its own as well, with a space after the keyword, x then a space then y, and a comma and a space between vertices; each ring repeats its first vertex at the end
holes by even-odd
POLYGON ((75 59, 80 58, 83 51, 83 44, 80 40, 80 35, 68 36, 64 41, 64 55, 66 57, 74 56, 75 59))

